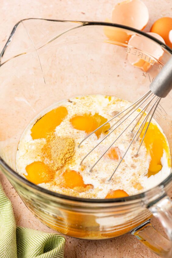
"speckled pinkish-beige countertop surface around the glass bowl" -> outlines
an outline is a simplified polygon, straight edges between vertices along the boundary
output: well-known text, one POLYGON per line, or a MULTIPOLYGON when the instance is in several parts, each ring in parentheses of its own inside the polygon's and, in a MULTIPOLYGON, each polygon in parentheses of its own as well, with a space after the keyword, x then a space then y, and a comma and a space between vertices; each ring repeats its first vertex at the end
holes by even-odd
MULTIPOLYGON (((48 18, 62 20, 104 21, 110 18, 111 10, 118 0, 1 0, 0 8, 0 50, 4 46, 13 25, 24 18, 48 18)), ((162 16, 170 16, 170 0, 144 0, 149 10, 149 31, 152 23, 162 16)), ((0 171, 0 181, 5 193, 13 203, 17 225, 45 232, 55 232, 43 225, 23 204, 20 197, 0 171)), ((160 228, 153 219, 152 224, 160 228)), ((81 240, 66 237, 67 258, 156 258, 148 248, 132 235, 109 240, 81 240)))

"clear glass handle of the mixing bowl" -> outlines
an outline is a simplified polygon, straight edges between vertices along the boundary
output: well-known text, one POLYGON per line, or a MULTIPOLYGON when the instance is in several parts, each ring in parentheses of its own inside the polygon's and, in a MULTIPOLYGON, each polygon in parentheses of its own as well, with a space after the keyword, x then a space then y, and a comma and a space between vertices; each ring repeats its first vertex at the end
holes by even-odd
POLYGON ((156 204, 148 207, 153 216, 159 219, 165 229, 169 239, 163 237, 151 224, 146 221, 135 228, 131 234, 134 235, 143 244, 149 247, 152 252, 160 257, 172 257, 172 202, 168 196, 165 196, 156 204))

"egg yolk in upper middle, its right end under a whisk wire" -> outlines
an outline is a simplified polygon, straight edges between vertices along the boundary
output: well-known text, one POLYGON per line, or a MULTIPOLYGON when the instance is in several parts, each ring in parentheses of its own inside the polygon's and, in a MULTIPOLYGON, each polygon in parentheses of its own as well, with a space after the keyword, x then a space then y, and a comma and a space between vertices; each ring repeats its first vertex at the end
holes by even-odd
MULTIPOLYGON (((86 133, 91 133, 95 129, 97 129, 99 126, 107 122, 107 119, 103 116, 100 116, 98 113, 95 113, 95 115, 91 114, 84 114, 83 116, 74 116, 70 119, 70 122, 72 123, 72 126, 81 131, 85 131, 86 133)), ((110 124, 107 123, 104 126, 102 126, 100 129, 98 129, 95 134, 99 138, 100 134, 102 132, 106 132, 110 128, 110 124)))

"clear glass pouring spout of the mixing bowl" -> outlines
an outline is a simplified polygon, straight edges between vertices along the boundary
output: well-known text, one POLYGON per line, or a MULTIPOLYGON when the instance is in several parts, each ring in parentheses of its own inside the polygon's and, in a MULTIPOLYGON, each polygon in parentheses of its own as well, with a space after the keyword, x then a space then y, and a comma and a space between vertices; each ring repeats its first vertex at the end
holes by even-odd
POLYGON ((86 22, 36 18, 20 20, 13 27, 0 53, 0 66, 18 56, 38 51, 73 28, 83 26, 84 23, 86 22))

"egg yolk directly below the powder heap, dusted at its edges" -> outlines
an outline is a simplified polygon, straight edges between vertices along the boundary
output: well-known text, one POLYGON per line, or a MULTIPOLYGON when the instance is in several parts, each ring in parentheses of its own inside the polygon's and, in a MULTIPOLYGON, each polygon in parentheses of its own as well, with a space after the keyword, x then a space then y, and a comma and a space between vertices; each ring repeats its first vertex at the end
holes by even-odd
POLYGON ((87 187, 82 176, 75 170, 66 170, 63 173, 63 187, 73 189, 74 187, 87 187))

